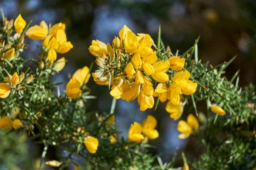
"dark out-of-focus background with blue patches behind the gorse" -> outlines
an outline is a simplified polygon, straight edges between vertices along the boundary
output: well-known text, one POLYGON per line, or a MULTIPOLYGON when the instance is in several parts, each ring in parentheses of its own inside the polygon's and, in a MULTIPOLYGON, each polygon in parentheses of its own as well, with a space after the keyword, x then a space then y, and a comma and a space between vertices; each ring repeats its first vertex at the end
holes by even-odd
MULTIPOLYGON (((68 73, 72 75, 78 68, 89 67, 95 60, 88 50, 92 40, 111 44, 114 36, 118 36, 119 30, 126 24, 134 33, 149 34, 155 41, 161 25, 165 46, 169 45, 173 52, 179 49, 180 53, 193 46, 201 34, 198 56, 203 63, 209 61, 217 65, 237 54, 238 57, 227 69, 226 77, 230 79, 241 69, 241 86, 256 83, 255 0, 1 0, 0 7, 8 19, 16 19, 21 14, 27 23, 33 19, 31 25, 39 24, 42 20, 52 25, 58 22, 66 24, 67 39, 74 48, 66 54, 58 54, 58 58, 64 56, 69 61, 60 74, 54 77, 54 81, 68 81, 68 73)), ((40 45, 41 41, 26 39, 25 43, 30 47, 25 50, 24 58, 37 58, 40 50, 35 45, 40 45)), ((96 68, 94 65, 93 70, 96 68)), ((89 80, 88 86, 92 89, 92 95, 98 98, 89 101, 87 110, 97 108, 109 112, 112 97, 108 87, 95 84, 93 78, 89 80)), ((65 85, 60 86, 60 89, 63 91, 65 85)), ((204 150, 196 149, 199 142, 195 142, 193 136, 186 140, 178 139, 178 120, 169 118, 165 105, 160 102, 156 112, 154 109, 142 112, 137 99, 132 102, 119 99, 115 120, 120 131, 118 135, 127 138, 130 124, 134 121, 142 123, 151 114, 158 120, 157 130, 160 134, 159 138, 150 141, 157 146, 151 152, 160 154, 163 161, 169 162, 176 147, 179 147, 179 152, 185 151, 193 162, 204 150)), ((188 108, 181 119, 187 117, 188 108)), ((193 109, 191 113, 194 113, 193 109)), ((33 149, 34 158, 41 157, 42 146, 26 143, 23 147, 33 149)), ((46 160, 58 160, 58 154, 61 153, 52 148, 46 160)), ((5 170, 0 163, 2 169, 5 170)), ((45 166, 45 169, 52 168, 45 166)))

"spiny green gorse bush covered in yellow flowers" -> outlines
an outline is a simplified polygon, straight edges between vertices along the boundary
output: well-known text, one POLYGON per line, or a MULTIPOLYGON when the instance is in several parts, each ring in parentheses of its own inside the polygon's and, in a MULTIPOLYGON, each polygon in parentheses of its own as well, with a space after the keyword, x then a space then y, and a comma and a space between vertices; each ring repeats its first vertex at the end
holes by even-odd
MULTIPOLYGON (((60 95, 59 88, 57 92, 52 91, 65 83, 51 80, 66 62, 64 57, 57 60, 57 53, 73 48, 67 41, 65 24, 51 26, 42 21, 29 27, 32 21, 26 23, 21 15, 15 21, 8 21, 3 11, 1 13, 0 127, 7 135, 18 131, 21 135, 28 133, 32 139, 39 138, 37 143, 44 145, 40 166, 48 148, 54 146, 67 153, 60 156, 60 160, 45 162, 57 169, 69 164, 74 164, 75 170, 255 168, 254 87, 238 86, 239 71, 230 81, 222 76, 236 56, 216 66, 202 64, 197 48, 200 36, 183 54, 179 54, 179 50, 174 54, 169 46, 164 46, 160 28, 154 43, 148 34, 135 35, 125 25, 111 45, 93 40, 89 47, 99 66, 92 77, 97 84, 111 88, 113 101, 110 113, 96 109, 87 112, 87 100, 96 98, 90 95, 90 87, 86 85, 93 64, 69 76, 64 95, 60 95), (24 44, 26 37, 42 40, 39 58, 24 60, 21 57, 28 47, 24 44), (28 61, 35 66, 30 68, 28 61), (194 163, 187 160, 183 152, 181 157, 177 157, 177 152, 171 153, 174 157, 170 163, 162 163, 160 157, 148 153, 153 147, 148 140, 159 137, 153 115, 131 124, 127 139, 119 137, 114 126, 115 104, 119 98, 126 101, 137 98, 142 111, 154 106, 156 110, 159 102, 168 100, 165 109, 174 120, 186 114, 183 108, 191 103, 187 119, 179 120, 177 137, 197 136, 198 148, 205 149, 206 153, 194 163), (199 101, 205 103, 206 114, 198 112, 199 101), (74 155, 83 160, 86 167, 80 166, 74 155), (181 158, 183 167, 174 168, 181 158)), ((21 168, 24 167, 25 164, 21 168)), ((29 168, 33 169, 26 167, 29 168)))

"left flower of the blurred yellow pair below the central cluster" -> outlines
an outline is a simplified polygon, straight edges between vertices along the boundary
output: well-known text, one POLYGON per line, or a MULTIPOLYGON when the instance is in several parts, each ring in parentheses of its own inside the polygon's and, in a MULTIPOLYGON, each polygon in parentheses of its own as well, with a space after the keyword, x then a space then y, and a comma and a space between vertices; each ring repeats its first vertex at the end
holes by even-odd
POLYGON ((144 139, 142 133, 142 126, 138 122, 133 122, 128 131, 128 140, 136 143, 140 143, 144 139))

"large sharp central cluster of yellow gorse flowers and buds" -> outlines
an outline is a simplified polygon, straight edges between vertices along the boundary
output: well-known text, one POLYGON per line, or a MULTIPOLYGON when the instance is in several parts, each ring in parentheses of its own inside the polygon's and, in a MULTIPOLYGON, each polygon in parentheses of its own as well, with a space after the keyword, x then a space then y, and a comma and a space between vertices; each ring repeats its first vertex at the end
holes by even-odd
POLYGON ((188 71, 182 70, 184 58, 169 56, 164 60, 150 35, 135 35, 126 25, 119 37, 113 39, 112 46, 93 40, 89 51, 96 56, 99 66, 93 73, 94 81, 112 85, 110 94, 116 99, 132 101, 138 97, 142 111, 154 106, 153 96, 159 97, 161 102, 168 99, 177 106, 181 94, 190 95, 196 91, 197 83, 189 80, 188 71), (175 71, 179 72, 172 78, 175 71), (155 90, 154 84, 157 84, 155 90))

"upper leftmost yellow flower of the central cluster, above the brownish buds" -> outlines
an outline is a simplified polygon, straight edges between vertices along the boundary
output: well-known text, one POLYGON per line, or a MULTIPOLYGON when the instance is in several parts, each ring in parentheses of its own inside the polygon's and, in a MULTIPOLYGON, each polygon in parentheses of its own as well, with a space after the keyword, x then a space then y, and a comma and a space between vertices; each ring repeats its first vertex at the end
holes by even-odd
POLYGON ((94 56, 102 56, 102 53, 104 52, 106 55, 113 55, 114 50, 112 49, 110 44, 105 44, 99 40, 93 40, 92 45, 89 47, 89 51, 94 56), (95 55, 96 54, 96 55, 95 55))

